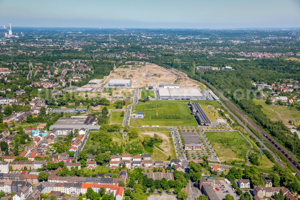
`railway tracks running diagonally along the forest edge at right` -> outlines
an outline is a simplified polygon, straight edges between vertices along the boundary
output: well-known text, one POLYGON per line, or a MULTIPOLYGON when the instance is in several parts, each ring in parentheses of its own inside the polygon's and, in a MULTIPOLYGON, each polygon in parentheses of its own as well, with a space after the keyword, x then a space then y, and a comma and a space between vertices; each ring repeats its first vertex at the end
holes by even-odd
MULTIPOLYGON (((205 81, 205 80, 203 80, 205 81)), ((250 117, 248 117, 246 114, 244 114, 240 109, 238 109, 231 101, 229 101, 229 99, 227 99, 223 94, 221 94, 214 86, 212 86, 210 83, 208 83, 207 81, 205 81, 205 83, 207 83, 215 92, 217 92, 218 94, 220 94, 220 97, 227 103, 228 106, 230 106, 237 114, 239 114, 241 116, 241 118, 247 123, 249 123, 249 125, 255 129, 259 135, 262 135, 262 137, 267 138, 268 143, 274 147, 275 150, 277 150, 281 155, 283 155, 283 157, 289 162, 289 164, 295 169, 297 174, 300 174, 300 167, 298 166, 298 164, 300 165, 300 161, 298 161, 297 158, 295 158, 295 156, 293 156, 292 154, 290 154, 286 149, 284 149, 284 147, 282 147, 279 143, 277 143, 270 135, 268 135, 260 126, 258 126, 255 122, 253 122, 252 119, 250 119, 250 117), (271 141, 270 141, 271 140, 271 141)), ((226 108, 226 106, 221 102, 221 104, 226 108)), ((239 123, 241 124, 245 124, 243 123, 241 120, 239 120, 238 117, 235 116, 235 114, 233 114, 229 109, 227 109, 227 111, 232 114, 232 116, 235 117, 235 119, 238 120, 239 123)), ((245 129, 256 139, 256 141, 258 141, 260 144, 262 144, 261 140, 254 135, 253 132, 250 131, 250 129, 247 128, 247 126, 245 126, 245 129)), ((275 161, 277 163, 279 163, 282 167, 285 167, 280 160, 277 158, 277 156, 274 154, 273 151, 271 151, 268 147, 266 147, 265 144, 262 144, 263 147, 268 150, 272 156, 274 157, 275 161)))

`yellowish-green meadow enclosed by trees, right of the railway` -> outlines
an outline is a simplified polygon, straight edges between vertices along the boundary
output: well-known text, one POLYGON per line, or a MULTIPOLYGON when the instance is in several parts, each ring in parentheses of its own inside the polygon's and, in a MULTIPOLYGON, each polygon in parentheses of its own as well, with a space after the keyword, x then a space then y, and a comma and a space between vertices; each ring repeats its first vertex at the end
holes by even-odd
POLYGON ((295 107, 275 106, 265 104, 265 100, 253 99, 256 105, 261 105, 262 112, 273 121, 282 120, 285 125, 289 125, 289 120, 300 122, 300 111, 295 107))

